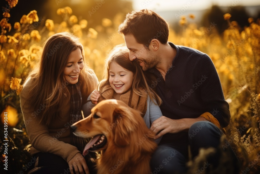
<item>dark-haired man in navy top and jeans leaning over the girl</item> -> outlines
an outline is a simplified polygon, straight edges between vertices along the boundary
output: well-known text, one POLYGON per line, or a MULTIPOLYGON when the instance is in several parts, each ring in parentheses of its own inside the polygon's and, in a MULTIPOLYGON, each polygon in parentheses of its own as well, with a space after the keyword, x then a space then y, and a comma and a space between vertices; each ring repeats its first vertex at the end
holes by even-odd
MULTIPOLYGON (((151 169, 185 173, 188 145, 193 157, 201 147, 218 147, 220 129, 230 121, 216 68, 205 53, 168 42, 168 24, 152 10, 127 14, 119 33, 124 35, 130 60, 138 61, 147 77, 155 79, 149 79, 149 85, 156 86, 163 102, 163 116, 151 125, 151 131, 158 133, 155 139, 163 135, 151 169)), ((232 155, 236 161, 233 151, 232 155)), ((211 163, 217 167, 218 159, 211 163)))

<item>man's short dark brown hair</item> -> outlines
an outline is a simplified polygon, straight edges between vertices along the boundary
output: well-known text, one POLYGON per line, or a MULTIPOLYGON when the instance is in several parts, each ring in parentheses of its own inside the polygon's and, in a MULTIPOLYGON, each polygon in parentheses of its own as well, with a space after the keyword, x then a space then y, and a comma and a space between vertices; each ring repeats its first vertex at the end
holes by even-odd
POLYGON ((152 39, 158 39, 162 44, 166 44, 169 26, 154 11, 142 9, 128 13, 125 21, 119 26, 118 32, 123 35, 133 34, 138 43, 148 47, 152 39))

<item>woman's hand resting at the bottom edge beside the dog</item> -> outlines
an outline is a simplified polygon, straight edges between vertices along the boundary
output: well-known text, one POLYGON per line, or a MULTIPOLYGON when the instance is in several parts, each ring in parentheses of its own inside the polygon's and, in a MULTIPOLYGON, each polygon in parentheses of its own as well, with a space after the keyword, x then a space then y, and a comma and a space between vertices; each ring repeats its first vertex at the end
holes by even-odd
POLYGON ((69 170, 71 174, 74 174, 73 167, 76 174, 84 174, 84 171, 86 172, 86 174, 89 174, 86 160, 83 158, 83 156, 80 153, 76 153, 76 155, 74 155, 74 157, 69 160, 68 164, 69 164, 69 170))

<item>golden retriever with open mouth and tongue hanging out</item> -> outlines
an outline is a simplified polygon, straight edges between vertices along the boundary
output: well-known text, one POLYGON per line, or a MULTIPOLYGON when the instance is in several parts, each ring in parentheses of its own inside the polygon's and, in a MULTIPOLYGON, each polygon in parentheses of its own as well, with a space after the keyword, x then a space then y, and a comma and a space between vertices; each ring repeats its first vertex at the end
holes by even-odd
POLYGON ((155 136, 140 113, 120 100, 103 100, 91 114, 71 126, 74 134, 92 137, 83 151, 101 151, 97 159, 98 174, 151 172, 151 155, 157 148, 155 136))

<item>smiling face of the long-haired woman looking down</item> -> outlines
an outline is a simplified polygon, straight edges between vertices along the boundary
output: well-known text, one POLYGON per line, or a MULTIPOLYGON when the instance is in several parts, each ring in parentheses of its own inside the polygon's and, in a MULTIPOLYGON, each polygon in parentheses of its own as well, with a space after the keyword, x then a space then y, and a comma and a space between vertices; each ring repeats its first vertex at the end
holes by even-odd
POLYGON ((64 79, 69 84, 76 84, 79 80, 80 71, 84 68, 81 50, 78 48, 69 55, 69 61, 64 69, 64 79))

